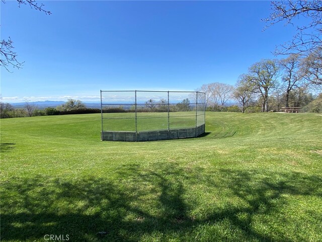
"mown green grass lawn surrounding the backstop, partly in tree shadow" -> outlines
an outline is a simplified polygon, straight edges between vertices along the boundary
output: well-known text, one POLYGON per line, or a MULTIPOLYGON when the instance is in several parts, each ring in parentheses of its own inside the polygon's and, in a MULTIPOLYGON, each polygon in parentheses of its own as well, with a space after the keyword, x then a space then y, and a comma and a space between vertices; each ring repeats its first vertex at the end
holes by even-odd
POLYGON ((137 143, 100 117, 1 120, 2 241, 322 241, 322 116, 207 112, 203 137, 137 143))

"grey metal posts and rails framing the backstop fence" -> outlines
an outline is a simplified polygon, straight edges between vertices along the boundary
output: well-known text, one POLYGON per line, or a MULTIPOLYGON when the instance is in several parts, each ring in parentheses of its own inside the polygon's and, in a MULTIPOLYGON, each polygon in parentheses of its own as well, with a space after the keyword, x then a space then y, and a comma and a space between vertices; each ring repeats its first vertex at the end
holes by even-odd
MULTIPOLYGON (((135 134, 135 140, 133 140, 133 139, 130 139, 130 140, 126 140, 126 134, 125 134, 125 136, 124 135, 122 135, 122 137, 125 137, 124 138, 124 141, 148 141, 149 140, 149 138, 147 138, 147 139, 143 139, 143 140, 139 140, 138 139, 138 134, 142 134, 142 133, 146 133, 147 134, 147 137, 149 137, 149 133, 151 133, 151 132, 158 132, 157 133, 157 139, 156 140, 160 140, 159 139, 159 131, 168 131, 168 139, 176 139, 176 138, 188 138, 188 137, 197 137, 197 136, 199 136, 199 135, 201 135, 202 133, 204 133, 205 132, 205 120, 206 120, 206 113, 205 113, 205 104, 206 104, 206 95, 205 95, 205 93, 204 92, 198 92, 198 91, 150 91, 150 90, 144 90, 144 91, 142 91, 142 90, 125 90, 125 91, 120 91, 120 90, 108 90, 108 91, 106 91, 106 90, 100 90, 100 93, 101 93, 101 126, 102 126, 102 133, 101 133, 101 138, 102 138, 102 140, 115 140, 115 141, 123 141, 123 138, 120 138, 120 139, 117 139, 117 138, 111 138, 111 139, 104 139, 104 134, 105 133, 108 133, 108 132, 113 132, 113 137, 115 137, 115 134, 119 134, 119 133, 128 133, 128 134, 131 134, 131 133, 133 133, 133 134, 135 134), (103 98, 102 98, 102 93, 105 93, 105 92, 115 92, 115 93, 117 93, 117 92, 134 92, 134 104, 132 104, 132 105, 135 105, 135 110, 134 110, 134 113, 135 113, 135 131, 104 131, 104 125, 103 125, 103 123, 104 123, 104 119, 109 119, 109 118, 106 118, 106 117, 103 117, 103 106, 107 106, 107 105, 125 105, 125 104, 123 104, 123 103, 104 103, 104 101, 103 101, 103 98), (138 92, 158 92, 158 93, 168 93, 168 103, 166 103, 167 105, 168 105, 168 110, 167 110, 167 112, 168 112, 168 127, 167 127, 167 129, 165 130, 165 129, 158 129, 158 130, 145 130, 145 131, 138 131, 138 129, 137 129, 137 119, 138 119, 138 117, 137 117, 137 113, 138 113, 138 110, 137 110, 137 106, 138 105, 143 105, 143 104, 138 104, 137 103, 137 93, 138 92), (196 118, 195 118, 195 127, 182 127, 182 128, 177 128, 177 129, 171 129, 171 127, 170 127, 170 105, 175 105, 176 103, 171 103, 170 102, 170 93, 196 93, 196 102, 195 103, 190 103, 190 104, 192 104, 192 105, 195 105, 196 106, 196 112, 195 112, 195 116, 196 116, 196 118), (204 98, 203 98, 203 100, 201 100, 200 102, 198 102, 198 94, 203 94, 203 96, 204 96, 204 98), (202 110, 202 112, 203 112, 203 114, 198 114, 198 104, 203 104, 203 110, 202 110), (198 116, 200 116, 200 115, 204 115, 204 118, 203 118, 203 123, 201 124, 201 125, 199 125, 198 126, 198 123, 197 123, 197 119, 198 119, 198 116), (195 132, 195 135, 192 135, 192 131, 191 131, 191 129, 192 128, 195 128, 195 130, 194 130, 194 132, 195 132), (188 135, 188 130, 190 129, 190 135, 188 135), (172 131, 176 131, 176 132, 178 132, 178 135, 177 136, 171 136, 171 132, 172 131), (186 132, 186 136, 184 136, 184 135, 181 135, 180 136, 180 132, 186 132)), ((126 104, 126 105, 131 105, 131 104, 126 104)), ((194 115, 189 115, 189 116, 194 116, 194 115)), ((174 116, 175 117, 175 116, 174 116)), ((178 117, 178 116, 177 116, 178 117)), ((156 117, 157 118, 157 117, 156 117)), ((120 118, 120 119, 122 119, 122 118, 120 118)), ((123 118, 123 119, 130 119, 130 118, 123 118)), ((140 118, 139 118, 140 119, 140 118)), ((155 139, 150 139, 150 140, 155 140, 155 139)), ((161 140, 164 140, 164 138, 162 138, 161 140)))

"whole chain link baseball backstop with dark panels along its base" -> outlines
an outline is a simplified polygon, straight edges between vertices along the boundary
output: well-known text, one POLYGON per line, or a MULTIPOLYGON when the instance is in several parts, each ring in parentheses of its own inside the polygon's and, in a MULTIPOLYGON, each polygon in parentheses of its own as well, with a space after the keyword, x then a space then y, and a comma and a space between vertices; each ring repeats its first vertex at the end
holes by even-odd
POLYGON ((164 140, 205 132, 203 92, 101 90, 101 110, 102 140, 164 140))

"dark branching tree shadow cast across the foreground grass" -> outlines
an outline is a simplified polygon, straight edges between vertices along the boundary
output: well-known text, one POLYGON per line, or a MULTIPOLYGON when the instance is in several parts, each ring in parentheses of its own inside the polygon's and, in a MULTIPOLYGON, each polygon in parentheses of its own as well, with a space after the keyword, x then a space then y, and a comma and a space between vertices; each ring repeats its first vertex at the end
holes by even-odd
POLYGON ((221 169, 214 179, 200 167, 187 171, 176 163, 159 163, 155 169, 123 165, 113 180, 12 177, 2 185, 2 241, 43 241, 45 234, 68 234, 70 241, 137 241, 155 234, 163 240, 176 236, 183 241, 207 241, 227 240, 233 231, 240 241, 289 240, 287 234, 255 230, 253 217, 287 205, 283 195, 321 197, 322 180, 296 172, 255 178, 257 172, 221 169), (195 185, 225 191, 245 205, 213 204, 206 216, 193 216, 198 200, 185 195, 195 185), (225 233, 196 232, 216 224, 225 233))

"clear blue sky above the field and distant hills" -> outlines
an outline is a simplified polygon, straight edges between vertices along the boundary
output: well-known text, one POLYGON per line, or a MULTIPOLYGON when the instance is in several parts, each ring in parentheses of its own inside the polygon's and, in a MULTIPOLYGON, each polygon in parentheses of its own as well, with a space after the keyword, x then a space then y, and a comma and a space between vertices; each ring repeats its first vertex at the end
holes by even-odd
MULTIPOLYGON (((41 2, 41 1, 40 1, 41 2)), ((195 90, 234 84, 274 58, 292 26, 263 32, 268 1, 44 1, 48 16, 1 3, 1 39, 23 69, 1 69, 1 98, 99 100, 100 90, 195 90)))

